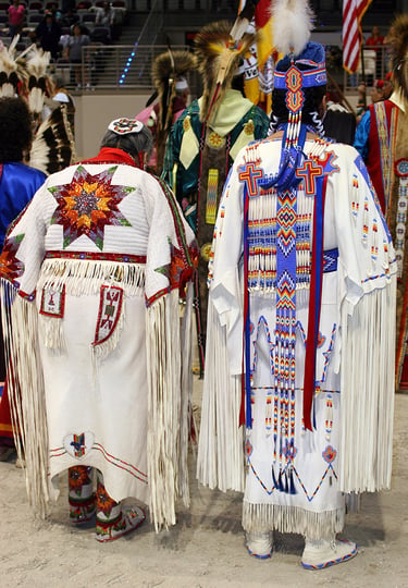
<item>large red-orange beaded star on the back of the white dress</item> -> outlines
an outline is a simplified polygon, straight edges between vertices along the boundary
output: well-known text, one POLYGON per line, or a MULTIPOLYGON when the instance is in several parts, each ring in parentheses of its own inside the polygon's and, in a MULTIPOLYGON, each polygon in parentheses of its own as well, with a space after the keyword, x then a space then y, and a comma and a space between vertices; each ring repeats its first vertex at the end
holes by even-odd
POLYGON ((107 225, 132 226, 119 209, 119 204, 135 188, 112 185, 116 168, 114 166, 91 175, 83 166, 78 166, 70 184, 49 188, 58 201, 51 224, 62 224, 63 248, 86 235, 102 250, 107 225))

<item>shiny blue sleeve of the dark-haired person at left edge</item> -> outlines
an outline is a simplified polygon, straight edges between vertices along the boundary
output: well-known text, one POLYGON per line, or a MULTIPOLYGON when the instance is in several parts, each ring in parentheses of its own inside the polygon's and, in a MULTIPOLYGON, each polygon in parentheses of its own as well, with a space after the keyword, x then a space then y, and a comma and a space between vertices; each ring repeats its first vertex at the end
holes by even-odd
POLYGON ((0 247, 5 232, 44 184, 47 175, 24 163, 3 163, 0 179, 0 247))

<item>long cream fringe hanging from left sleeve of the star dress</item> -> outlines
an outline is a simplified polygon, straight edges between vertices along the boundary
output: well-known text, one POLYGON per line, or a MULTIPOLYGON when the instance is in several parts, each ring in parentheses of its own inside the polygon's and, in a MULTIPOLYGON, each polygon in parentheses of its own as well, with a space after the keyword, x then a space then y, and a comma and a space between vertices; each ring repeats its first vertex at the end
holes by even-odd
POLYGON ((0 280, 8 384, 13 431, 24 465, 29 504, 36 516, 48 512, 48 427, 42 369, 38 352, 37 308, 0 280), (18 434, 20 430, 20 434, 18 434))

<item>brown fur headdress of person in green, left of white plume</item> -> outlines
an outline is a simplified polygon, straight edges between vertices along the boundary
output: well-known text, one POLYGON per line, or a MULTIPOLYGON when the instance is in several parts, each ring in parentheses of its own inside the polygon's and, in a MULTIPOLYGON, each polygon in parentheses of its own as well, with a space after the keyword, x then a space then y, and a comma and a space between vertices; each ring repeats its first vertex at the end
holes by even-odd
POLYGON ((197 69, 203 84, 201 121, 210 122, 215 114, 225 90, 231 87, 240 60, 255 39, 255 34, 246 33, 239 40, 234 40, 227 21, 210 23, 196 36, 197 69))

